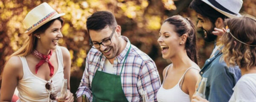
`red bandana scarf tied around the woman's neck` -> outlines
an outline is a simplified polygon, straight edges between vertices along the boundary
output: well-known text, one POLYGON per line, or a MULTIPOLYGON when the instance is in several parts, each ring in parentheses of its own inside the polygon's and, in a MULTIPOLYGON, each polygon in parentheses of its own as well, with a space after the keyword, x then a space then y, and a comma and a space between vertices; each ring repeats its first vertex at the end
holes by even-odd
POLYGON ((40 62, 38 62, 38 64, 35 66, 35 74, 37 74, 37 71, 38 71, 39 67, 41 65, 43 65, 44 62, 47 62, 48 65, 49 65, 49 68, 50 68, 50 77, 52 77, 52 75, 54 73, 54 67, 53 67, 52 63, 49 61, 49 59, 52 56, 52 50, 50 51, 50 53, 48 55, 44 55, 41 52, 39 52, 37 50, 34 50, 34 51, 32 51, 32 55, 34 57, 37 57, 37 58, 41 59, 40 62))

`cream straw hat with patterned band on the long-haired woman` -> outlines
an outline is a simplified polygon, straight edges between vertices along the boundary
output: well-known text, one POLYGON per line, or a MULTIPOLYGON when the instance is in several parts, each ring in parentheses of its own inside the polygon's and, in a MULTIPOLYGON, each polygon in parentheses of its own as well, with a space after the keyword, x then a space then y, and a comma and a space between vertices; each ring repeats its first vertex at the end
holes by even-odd
POLYGON ((65 13, 58 14, 48 3, 41 3, 39 6, 33 8, 26 15, 23 23, 25 24, 27 30, 26 34, 31 34, 33 31, 43 26, 45 23, 53 20, 55 18, 61 17, 65 13))

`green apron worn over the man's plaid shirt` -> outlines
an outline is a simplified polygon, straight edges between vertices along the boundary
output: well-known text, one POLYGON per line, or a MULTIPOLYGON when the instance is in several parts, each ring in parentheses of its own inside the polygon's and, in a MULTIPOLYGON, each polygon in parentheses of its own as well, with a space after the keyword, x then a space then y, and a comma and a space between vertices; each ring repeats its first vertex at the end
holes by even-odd
MULTIPOLYGON (((131 45, 125 55, 125 60, 130 52, 131 45)), ((102 57, 100 57, 100 60, 102 57)), ((124 67, 124 63, 122 69, 124 67)), ((97 71, 92 81, 93 102, 128 102, 122 89, 121 73, 120 75, 109 74, 103 71, 97 71)))

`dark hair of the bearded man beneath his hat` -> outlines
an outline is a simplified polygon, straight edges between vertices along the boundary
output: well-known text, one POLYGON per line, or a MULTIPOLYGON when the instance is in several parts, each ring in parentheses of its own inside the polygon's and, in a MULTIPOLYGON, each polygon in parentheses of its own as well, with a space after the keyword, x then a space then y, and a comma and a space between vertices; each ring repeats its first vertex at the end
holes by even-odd
POLYGON ((212 24, 215 23, 215 21, 218 19, 218 17, 221 17, 222 20, 225 20, 228 18, 224 14, 221 14, 211 6, 209 6, 207 3, 204 3, 201 0, 193 0, 190 5, 190 8, 194 9, 198 14, 201 14, 203 17, 209 18, 209 20, 212 22, 212 24))

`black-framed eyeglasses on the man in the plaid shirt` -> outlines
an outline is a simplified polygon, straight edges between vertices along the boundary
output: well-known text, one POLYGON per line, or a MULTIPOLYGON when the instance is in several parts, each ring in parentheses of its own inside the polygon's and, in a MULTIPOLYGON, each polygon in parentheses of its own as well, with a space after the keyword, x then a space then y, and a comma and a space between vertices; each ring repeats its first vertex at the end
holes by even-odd
POLYGON ((110 45, 112 42, 111 42, 111 37, 113 36, 114 32, 116 30, 116 27, 113 29, 112 33, 111 33, 111 36, 107 39, 107 40, 104 40, 102 42, 97 42, 97 43, 93 43, 92 40, 90 39, 90 45, 93 47, 93 48, 100 48, 100 45, 104 45, 104 46, 107 46, 107 45, 110 45))

